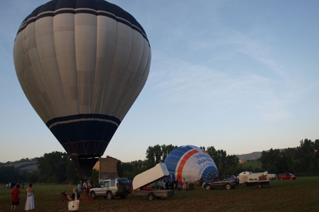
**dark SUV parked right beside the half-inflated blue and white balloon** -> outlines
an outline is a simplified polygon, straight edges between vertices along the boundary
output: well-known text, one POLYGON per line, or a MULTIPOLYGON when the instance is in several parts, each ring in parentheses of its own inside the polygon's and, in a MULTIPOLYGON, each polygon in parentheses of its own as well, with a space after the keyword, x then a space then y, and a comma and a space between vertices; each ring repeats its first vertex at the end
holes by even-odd
POLYGON ((209 180, 203 183, 203 188, 211 190, 214 188, 226 188, 231 189, 238 186, 239 180, 234 175, 221 175, 213 180, 209 180))

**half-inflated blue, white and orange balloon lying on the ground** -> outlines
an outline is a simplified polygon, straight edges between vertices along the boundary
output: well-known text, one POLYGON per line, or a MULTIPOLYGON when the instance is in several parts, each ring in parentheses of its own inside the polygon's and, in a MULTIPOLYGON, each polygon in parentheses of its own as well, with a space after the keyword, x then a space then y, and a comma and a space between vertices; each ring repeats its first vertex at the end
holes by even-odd
POLYGON ((173 180, 178 180, 179 184, 182 184, 183 179, 189 183, 199 179, 205 182, 219 174, 211 156, 201 148, 191 145, 174 149, 164 162, 173 180))

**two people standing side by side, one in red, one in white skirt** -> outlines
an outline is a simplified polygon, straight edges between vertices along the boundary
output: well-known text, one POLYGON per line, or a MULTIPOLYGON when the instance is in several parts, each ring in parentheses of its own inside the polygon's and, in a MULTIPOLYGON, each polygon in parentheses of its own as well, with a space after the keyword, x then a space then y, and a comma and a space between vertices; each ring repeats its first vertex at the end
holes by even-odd
MULTIPOLYGON (((23 185, 24 187, 24 185, 23 185)), ((25 210, 33 210, 34 209, 34 188, 32 188, 32 183, 29 184, 29 188, 26 189, 26 205, 25 210)), ((17 206, 20 204, 20 184, 17 183, 15 188, 11 191, 11 212, 15 212, 17 206)))

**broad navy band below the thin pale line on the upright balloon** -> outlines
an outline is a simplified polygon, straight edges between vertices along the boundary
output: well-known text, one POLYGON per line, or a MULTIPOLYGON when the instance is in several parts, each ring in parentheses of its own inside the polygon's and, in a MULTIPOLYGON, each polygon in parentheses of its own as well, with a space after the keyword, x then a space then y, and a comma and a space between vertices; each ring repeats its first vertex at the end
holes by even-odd
MULTIPOLYGON (((57 124, 50 128, 56 139, 63 145, 80 141, 110 142, 117 126, 104 121, 76 121, 57 124)), ((103 153, 102 153, 103 154, 103 153)))

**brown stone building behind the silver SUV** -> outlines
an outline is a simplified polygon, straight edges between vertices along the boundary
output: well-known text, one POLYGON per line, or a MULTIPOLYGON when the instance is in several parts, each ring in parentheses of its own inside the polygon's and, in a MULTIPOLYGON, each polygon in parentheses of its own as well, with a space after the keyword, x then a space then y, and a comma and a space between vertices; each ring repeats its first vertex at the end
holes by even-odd
POLYGON ((99 171, 100 179, 118 178, 116 164, 121 162, 114 157, 106 156, 106 158, 100 158, 94 165, 93 169, 99 171))

